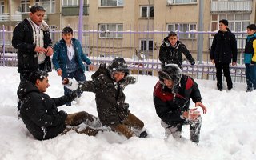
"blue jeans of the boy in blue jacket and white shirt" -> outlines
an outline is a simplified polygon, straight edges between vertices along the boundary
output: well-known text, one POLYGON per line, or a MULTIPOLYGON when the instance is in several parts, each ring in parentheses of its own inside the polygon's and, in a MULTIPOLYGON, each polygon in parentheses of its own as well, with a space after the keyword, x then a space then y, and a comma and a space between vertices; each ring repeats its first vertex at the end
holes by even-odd
MULTIPOLYGON (((76 70, 76 71, 71 72, 71 73, 62 74, 62 80, 63 80, 64 78, 74 78, 74 79, 75 79, 76 81, 78 81, 78 82, 86 81, 86 76, 85 76, 85 74, 84 74, 81 70, 76 70)), ((64 86, 64 94, 65 94, 65 95, 66 95, 66 94, 70 94, 71 91, 72 91, 72 90, 70 90, 70 89, 68 89, 68 88, 66 88, 66 87, 64 86)), ((80 92, 80 93, 78 94, 78 97, 80 97, 81 94, 82 94, 82 92, 80 92)), ((71 106, 71 102, 67 102, 67 103, 66 103, 66 106, 71 106)))

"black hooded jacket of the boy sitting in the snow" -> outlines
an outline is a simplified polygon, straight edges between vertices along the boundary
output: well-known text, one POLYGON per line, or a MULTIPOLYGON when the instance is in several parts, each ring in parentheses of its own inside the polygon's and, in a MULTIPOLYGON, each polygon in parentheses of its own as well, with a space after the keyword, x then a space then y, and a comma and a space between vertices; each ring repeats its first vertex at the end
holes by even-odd
POLYGON ((20 116, 30 131, 38 140, 54 138, 65 130, 66 112, 58 111, 57 106, 72 101, 76 91, 60 98, 50 98, 40 93, 38 87, 26 80, 18 87, 18 98, 21 100, 20 116))

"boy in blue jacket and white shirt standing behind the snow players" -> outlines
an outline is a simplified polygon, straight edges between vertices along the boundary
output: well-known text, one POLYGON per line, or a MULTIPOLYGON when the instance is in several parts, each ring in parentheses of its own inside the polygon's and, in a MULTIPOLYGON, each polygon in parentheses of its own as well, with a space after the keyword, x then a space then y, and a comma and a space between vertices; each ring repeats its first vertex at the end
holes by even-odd
MULTIPOLYGON (((86 62, 90 70, 94 69, 90 59, 82 51, 82 46, 78 39, 73 38, 73 30, 70 26, 66 26, 62 30, 62 39, 54 46, 53 64, 58 76, 64 78, 74 78, 76 81, 86 81, 86 67, 82 63, 86 62)), ((64 94, 70 94, 71 90, 64 87, 64 94)), ((80 93, 82 94, 82 92, 80 93)), ((80 97, 80 95, 78 96, 80 97)), ((71 106, 71 102, 67 102, 66 106, 71 106)))

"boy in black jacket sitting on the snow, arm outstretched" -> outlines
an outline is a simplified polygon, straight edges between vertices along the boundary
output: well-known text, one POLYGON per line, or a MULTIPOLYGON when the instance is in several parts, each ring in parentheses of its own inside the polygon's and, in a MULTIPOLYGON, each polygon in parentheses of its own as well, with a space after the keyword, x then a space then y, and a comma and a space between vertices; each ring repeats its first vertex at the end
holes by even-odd
MULTIPOLYGON (((50 98, 44 94, 49 86, 48 74, 38 70, 30 74, 29 81, 24 79, 18 87, 17 94, 21 100, 20 117, 34 138, 46 140, 62 134, 65 130, 71 130, 68 126, 77 126, 82 122, 91 125, 98 123, 97 118, 86 112, 66 114, 63 110, 58 111, 57 106, 77 97, 77 90, 60 98, 50 98)), ((98 130, 89 126, 76 131, 88 135, 98 133, 98 130)))

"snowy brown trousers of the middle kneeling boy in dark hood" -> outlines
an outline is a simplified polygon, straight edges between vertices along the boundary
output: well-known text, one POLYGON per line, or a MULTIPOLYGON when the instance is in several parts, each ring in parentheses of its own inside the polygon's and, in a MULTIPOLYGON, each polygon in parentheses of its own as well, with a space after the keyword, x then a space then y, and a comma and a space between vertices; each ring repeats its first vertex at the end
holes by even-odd
POLYGON ((133 127, 135 130, 142 130, 144 127, 144 123, 138 119, 134 114, 129 113, 128 118, 122 123, 116 126, 110 126, 112 130, 118 132, 119 134, 123 134, 126 138, 131 138, 136 136, 134 130, 131 130, 133 127))

